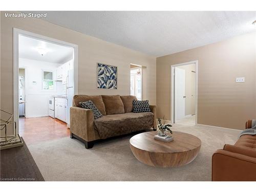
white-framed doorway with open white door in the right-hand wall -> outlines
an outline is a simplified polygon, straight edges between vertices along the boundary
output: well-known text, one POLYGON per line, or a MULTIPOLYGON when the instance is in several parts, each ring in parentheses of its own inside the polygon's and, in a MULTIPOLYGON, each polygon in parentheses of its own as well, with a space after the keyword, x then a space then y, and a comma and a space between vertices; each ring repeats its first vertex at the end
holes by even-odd
POLYGON ((172 122, 197 124, 198 61, 173 65, 171 89, 172 122))

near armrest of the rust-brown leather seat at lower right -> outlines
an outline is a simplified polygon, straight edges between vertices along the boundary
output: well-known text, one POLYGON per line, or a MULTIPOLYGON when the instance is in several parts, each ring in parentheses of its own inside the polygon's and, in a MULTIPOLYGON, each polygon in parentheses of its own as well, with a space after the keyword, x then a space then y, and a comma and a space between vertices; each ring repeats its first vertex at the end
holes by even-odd
POLYGON ((212 181, 256 181, 256 158, 218 150, 212 155, 212 181))

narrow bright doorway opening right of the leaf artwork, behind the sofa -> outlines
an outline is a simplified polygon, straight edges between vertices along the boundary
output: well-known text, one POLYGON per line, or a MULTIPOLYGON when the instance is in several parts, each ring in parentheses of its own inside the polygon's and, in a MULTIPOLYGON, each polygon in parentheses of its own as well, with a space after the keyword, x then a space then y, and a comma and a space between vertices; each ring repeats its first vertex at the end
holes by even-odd
POLYGON ((142 66, 131 64, 131 87, 130 94, 137 97, 138 100, 142 100, 142 76, 143 76, 143 68, 142 66))

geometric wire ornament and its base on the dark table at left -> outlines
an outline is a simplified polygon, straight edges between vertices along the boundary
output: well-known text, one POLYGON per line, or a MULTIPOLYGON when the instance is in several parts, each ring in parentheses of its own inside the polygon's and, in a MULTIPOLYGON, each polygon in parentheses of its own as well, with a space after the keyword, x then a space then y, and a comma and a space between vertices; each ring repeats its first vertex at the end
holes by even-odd
POLYGON ((1 136, 1 140, 0 140, 0 150, 4 150, 5 148, 11 148, 11 147, 15 147, 15 146, 21 146, 23 145, 23 141, 22 139, 20 139, 19 135, 16 134, 16 122, 15 121, 11 121, 11 118, 13 117, 13 114, 4 111, 4 110, 0 110, 1 111, 1 131, 4 130, 5 131, 5 136, 1 136), (13 129, 13 125, 14 124, 14 135, 9 135, 7 136, 7 129, 8 127, 12 127, 13 129), (10 125, 10 126, 8 126, 10 125))

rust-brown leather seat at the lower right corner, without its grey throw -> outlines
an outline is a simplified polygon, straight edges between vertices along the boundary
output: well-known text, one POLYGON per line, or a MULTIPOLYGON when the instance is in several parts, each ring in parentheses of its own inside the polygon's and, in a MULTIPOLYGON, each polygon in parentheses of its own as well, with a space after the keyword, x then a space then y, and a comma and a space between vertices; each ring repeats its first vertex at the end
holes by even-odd
MULTIPOLYGON (((246 129, 251 128, 251 120, 246 129)), ((242 135, 234 145, 212 155, 212 181, 256 181, 256 135, 242 135)))

